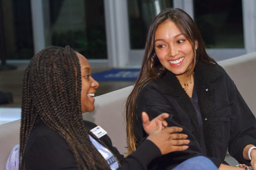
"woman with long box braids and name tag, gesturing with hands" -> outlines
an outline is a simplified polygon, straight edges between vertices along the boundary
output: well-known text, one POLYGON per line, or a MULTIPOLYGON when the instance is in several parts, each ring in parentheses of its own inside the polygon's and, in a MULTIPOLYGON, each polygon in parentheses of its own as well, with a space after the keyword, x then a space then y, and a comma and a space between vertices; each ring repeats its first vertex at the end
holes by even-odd
MULTIPOLYGON (((166 122, 161 116, 149 121, 144 115, 150 135, 124 158, 101 128, 82 119, 82 113, 94 110, 98 86, 87 59, 69 46, 51 46, 32 58, 23 81, 19 170, 140 170, 162 154, 188 148, 187 135, 179 133, 182 128, 162 130, 166 122), (97 136, 92 129, 103 135, 97 136)), ((214 170, 204 157, 182 166, 194 161, 214 170)))

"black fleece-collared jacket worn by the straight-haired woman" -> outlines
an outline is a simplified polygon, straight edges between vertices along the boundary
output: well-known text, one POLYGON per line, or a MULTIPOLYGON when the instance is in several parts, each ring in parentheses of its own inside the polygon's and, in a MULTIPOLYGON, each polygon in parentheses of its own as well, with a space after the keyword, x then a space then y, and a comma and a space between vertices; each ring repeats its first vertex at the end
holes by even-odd
MULTIPOLYGON (((248 144, 256 144, 256 121, 236 85, 219 65, 198 62, 194 72, 207 156, 219 167, 228 149, 239 163, 250 165, 243 158, 243 149, 248 144)), ((143 111, 150 119, 168 113, 168 126, 182 127, 182 133, 190 140, 187 150, 163 155, 160 158, 163 167, 158 169, 173 169, 188 158, 202 155, 195 108, 172 72, 167 71, 161 78, 146 82, 139 93, 138 119, 134 124, 139 140, 147 136, 141 121, 143 111)))

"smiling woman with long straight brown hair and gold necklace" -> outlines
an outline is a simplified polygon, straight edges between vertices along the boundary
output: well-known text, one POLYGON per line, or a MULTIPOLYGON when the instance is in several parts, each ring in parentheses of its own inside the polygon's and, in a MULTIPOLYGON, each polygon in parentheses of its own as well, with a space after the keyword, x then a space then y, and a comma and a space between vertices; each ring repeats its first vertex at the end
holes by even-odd
POLYGON ((147 136, 142 112, 150 119, 168 113, 168 126, 182 127, 190 140, 187 150, 159 158, 157 169, 173 169, 198 155, 219 169, 233 169, 224 161, 227 149, 239 163, 256 168, 255 117, 205 51, 193 19, 179 8, 160 12, 148 31, 141 72, 126 103, 129 153, 147 136))

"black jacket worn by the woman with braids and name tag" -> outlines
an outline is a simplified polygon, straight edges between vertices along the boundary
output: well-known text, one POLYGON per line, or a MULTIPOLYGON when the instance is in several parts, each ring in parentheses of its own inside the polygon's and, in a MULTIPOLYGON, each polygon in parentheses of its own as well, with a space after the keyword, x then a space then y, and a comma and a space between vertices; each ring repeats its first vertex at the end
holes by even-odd
MULTIPOLYGON (((84 124, 88 129, 97 126, 89 121, 84 121, 84 124)), ((153 159, 161 156, 160 150, 150 140, 145 140, 136 152, 124 158, 112 146, 108 135, 100 139, 120 161, 121 167, 118 170, 146 170, 153 159)), ((95 138, 95 140, 98 139, 95 138)), ((24 158, 26 170, 78 170, 67 141, 41 120, 28 137, 24 158)))

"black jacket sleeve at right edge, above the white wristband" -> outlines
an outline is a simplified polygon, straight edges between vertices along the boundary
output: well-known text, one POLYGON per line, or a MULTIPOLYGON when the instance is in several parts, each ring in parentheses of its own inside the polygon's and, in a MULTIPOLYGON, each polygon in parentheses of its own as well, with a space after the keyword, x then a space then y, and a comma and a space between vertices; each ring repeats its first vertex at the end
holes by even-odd
POLYGON ((243 158, 243 149, 249 144, 256 145, 256 119, 226 72, 224 78, 231 112, 228 151, 239 163, 250 166, 243 158))

